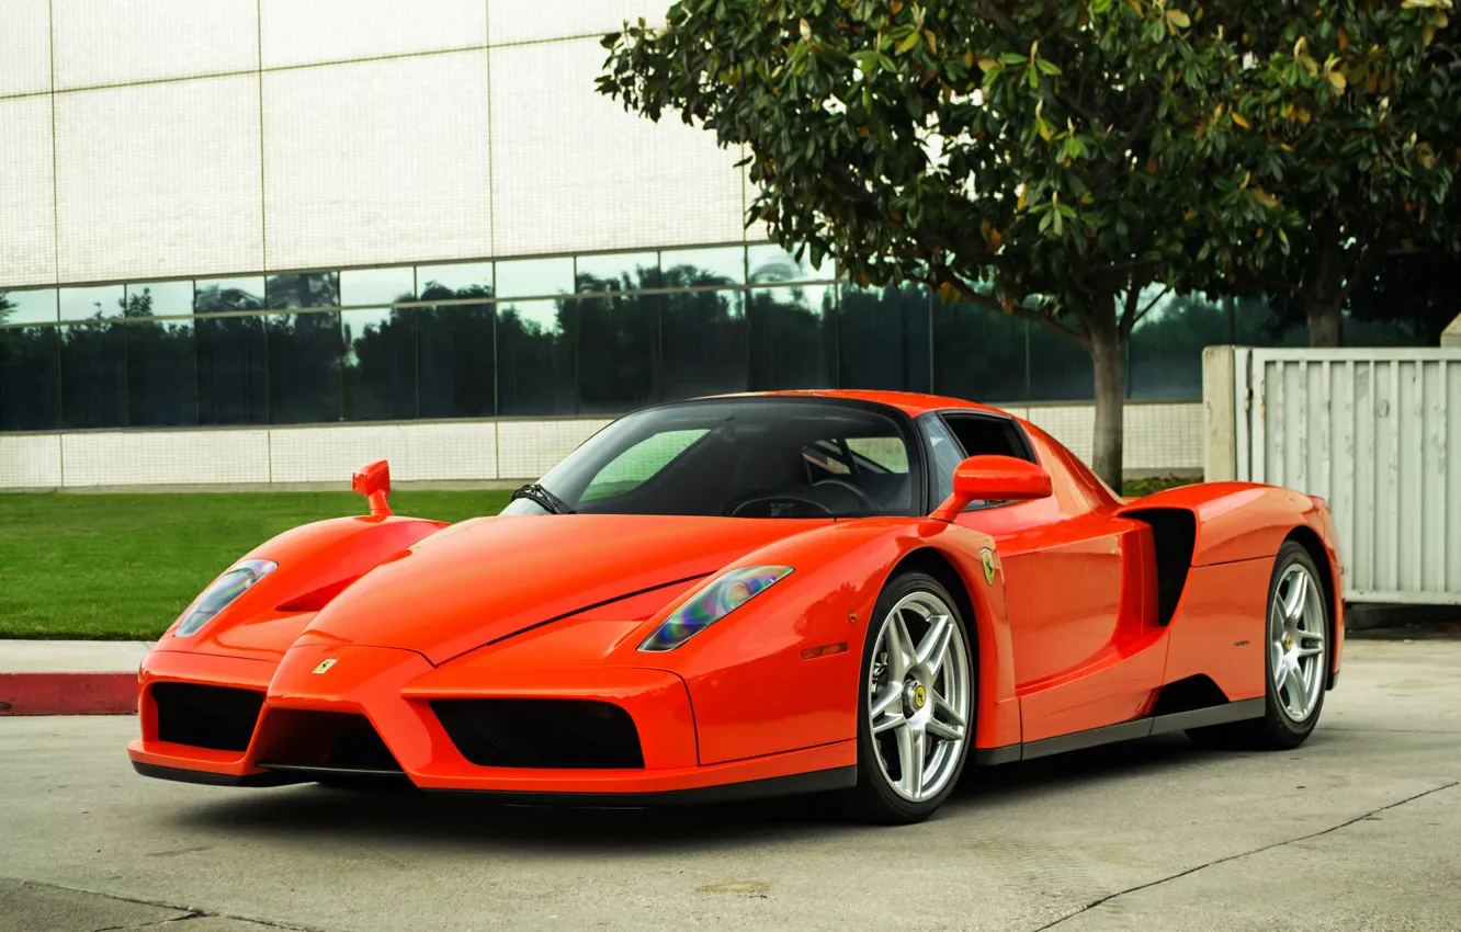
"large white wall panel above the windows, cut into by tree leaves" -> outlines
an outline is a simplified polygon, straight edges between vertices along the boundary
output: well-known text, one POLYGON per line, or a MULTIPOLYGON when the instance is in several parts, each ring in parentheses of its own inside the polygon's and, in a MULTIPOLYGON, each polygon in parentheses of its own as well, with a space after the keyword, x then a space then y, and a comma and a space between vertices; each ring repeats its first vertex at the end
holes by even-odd
POLYGON ((596 39, 491 56, 494 254, 744 238, 739 152, 599 95, 596 39))

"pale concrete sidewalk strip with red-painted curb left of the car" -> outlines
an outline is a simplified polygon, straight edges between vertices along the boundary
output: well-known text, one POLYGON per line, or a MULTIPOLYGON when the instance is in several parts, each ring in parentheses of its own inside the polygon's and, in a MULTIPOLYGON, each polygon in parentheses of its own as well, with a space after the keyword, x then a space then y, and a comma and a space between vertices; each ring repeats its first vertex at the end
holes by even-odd
POLYGON ((137 711, 142 641, 0 640, 0 716, 137 711))

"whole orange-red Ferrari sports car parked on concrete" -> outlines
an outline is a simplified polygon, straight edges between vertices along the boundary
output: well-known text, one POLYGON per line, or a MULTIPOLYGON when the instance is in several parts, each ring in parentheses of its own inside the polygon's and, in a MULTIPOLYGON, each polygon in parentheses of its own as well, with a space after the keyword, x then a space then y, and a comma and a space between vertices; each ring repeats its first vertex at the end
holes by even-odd
POLYGON ((969 402, 647 408, 507 508, 297 527, 140 671, 142 774, 640 806, 839 792, 926 818, 967 764, 1185 730, 1294 748, 1340 671, 1328 505, 1122 500, 969 402))

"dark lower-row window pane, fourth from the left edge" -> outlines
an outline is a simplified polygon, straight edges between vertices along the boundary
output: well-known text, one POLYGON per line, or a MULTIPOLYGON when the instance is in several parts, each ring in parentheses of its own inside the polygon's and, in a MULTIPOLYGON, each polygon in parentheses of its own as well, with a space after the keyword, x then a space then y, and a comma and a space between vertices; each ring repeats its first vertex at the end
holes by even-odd
POLYGON ((197 422, 269 422, 269 348, 263 317, 200 317, 197 343, 197 422))

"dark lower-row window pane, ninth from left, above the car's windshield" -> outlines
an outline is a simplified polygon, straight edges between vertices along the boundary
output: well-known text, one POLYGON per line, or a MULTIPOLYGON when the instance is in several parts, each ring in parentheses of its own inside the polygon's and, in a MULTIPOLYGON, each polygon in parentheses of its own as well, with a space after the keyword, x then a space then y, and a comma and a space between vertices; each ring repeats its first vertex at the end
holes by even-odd
POLYGON ((577 346, 579 410, 625 413, 656 400, 660 295, 565 304, 573 305, 567 320, 577 346))

